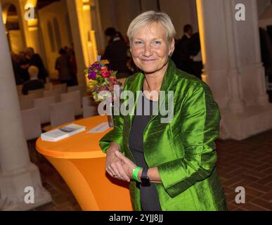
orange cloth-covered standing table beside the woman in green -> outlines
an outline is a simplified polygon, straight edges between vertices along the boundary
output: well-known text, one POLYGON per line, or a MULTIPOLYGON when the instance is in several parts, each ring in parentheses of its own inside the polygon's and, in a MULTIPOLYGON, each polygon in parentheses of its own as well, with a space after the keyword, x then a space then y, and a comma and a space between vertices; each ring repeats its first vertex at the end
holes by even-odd
POLYGON ((58 170, 82 210, 132 210, 129 184, 113 179, 105 172, 105 154, 98 141, 110 129, 87 134, 106 116, 90 117, 72 123, 86 126, 86 131, 57 142, 37 140, 39 153, 58 170))

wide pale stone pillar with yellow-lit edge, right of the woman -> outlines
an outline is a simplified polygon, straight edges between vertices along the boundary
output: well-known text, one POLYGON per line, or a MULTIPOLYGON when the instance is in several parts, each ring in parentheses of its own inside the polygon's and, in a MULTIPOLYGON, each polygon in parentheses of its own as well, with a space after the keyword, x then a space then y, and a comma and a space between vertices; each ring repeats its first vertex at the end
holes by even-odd
POLYGON ((197 0, 204 70, 221 110, 221 139, 245 139, 272 128, 261 65, 256 0, 197 0), (245 20, 235 19, 237 4, 245 20))

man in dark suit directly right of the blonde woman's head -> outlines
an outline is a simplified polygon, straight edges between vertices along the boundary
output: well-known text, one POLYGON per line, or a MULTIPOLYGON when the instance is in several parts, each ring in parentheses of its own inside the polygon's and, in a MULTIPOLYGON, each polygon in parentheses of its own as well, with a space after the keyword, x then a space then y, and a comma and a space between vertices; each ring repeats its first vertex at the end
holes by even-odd
POLYGON ((172 55, 172 60, 176 64, 176 67, 188 73, 192 73, 190 68, 190 53, 188 49, 188 40, 193 34, 193 27, 191 25, 185 25, 183 27, 183 37, 176 41, 175 51, 172 55))

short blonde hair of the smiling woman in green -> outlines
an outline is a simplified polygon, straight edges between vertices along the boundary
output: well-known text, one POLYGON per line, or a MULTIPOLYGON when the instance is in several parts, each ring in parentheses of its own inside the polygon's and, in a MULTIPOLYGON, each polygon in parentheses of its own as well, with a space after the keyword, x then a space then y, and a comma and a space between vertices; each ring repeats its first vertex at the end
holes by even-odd
POLYGON ((151 25, 152 23, 160 23, 165 28, 167 32, 167 40, 169 41, 169 44, 171 44, 171 41, 176 36, 176 30, 171 18, 169 18, 169 15, 166 13, 157 13, 155 11, 146 11, 141 13, 131 21, 127 30, 127 36, 129 37, 130 43, 138 30, 143 26, 151 25))

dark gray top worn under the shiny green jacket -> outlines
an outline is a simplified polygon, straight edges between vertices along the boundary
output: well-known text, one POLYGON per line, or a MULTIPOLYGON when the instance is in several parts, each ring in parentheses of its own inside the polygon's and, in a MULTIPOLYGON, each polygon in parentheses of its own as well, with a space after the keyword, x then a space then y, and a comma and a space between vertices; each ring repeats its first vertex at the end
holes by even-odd
MULTIPOLYGON (((143 94, 139 96, 136 105, 136 115, 129 134, 129 148, 136 161, 136 165, 148 168, 145 162, 143 149, 143 131, 147 126, 153 112, 153 105, 157 107, 156 101, 150 101, 143 94), (149 107, 148 107, 149 105, 149 107)), ((151 186, 139 185, 141 192, 141 206, 144 211, 161 211, 157 189, 155 184, 151 186)))

